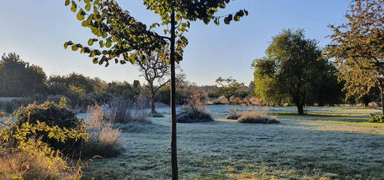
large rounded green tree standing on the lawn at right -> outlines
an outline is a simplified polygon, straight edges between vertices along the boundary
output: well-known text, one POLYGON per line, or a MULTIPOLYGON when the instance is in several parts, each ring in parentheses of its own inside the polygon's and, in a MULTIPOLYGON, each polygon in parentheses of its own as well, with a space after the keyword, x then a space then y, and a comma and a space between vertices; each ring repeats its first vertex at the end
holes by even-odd
POLYGON ((331 81, 332 65, 323 58, 316 40, 305 39, 302 30, 283 30, 272 38, 265 53, 266 57, 254 60, 252 65, 255 93, 263 101, 295 104, 302 115, 306 104, 332 95, 332 90, 322 90, 324 84, 335 82, 331 81))

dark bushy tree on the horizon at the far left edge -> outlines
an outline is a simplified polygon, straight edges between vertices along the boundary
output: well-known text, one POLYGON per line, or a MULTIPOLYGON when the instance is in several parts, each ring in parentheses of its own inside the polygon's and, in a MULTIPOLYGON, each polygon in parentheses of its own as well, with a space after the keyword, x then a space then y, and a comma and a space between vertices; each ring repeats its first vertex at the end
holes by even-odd
POLYGON ((15 53, 3 54, 0 60, 0 96, 20 97, 38 93, 45 87, 45 73, 29 65, 15 53))

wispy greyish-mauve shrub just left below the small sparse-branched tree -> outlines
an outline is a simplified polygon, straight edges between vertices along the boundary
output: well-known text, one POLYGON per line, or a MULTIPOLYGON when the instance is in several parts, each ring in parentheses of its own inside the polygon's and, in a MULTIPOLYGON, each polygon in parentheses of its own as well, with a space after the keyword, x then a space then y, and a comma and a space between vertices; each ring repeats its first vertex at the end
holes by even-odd
POLYGON ((147 99, 121 99, 115 98, 110 101, 110 108, 115 111, 115 122, 128 123, 151 123, 147 120, 147 99))

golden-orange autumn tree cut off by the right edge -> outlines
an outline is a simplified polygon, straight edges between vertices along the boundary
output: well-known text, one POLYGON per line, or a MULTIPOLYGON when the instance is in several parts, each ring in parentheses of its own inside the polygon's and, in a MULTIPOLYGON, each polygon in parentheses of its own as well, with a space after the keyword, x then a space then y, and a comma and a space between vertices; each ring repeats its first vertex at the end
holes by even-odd
POLYGON ((383 6, 383 0, 353 0, 345 15, 348 22, 330 26, 332 43, 326 51, 336 59, 339 79, 346 81, 347 98, 378 87, 384 114, 383 6))

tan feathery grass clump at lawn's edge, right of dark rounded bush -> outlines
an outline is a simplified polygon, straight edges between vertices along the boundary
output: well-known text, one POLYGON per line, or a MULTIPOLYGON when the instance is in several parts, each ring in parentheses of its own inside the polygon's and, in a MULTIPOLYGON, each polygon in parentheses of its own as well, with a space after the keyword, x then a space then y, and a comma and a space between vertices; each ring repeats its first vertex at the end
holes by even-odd
POLYGON ((83 156, 113 157, 121 152, 120 129, 112 127, 115 115, 105 106, 89 106, 85 131, 90 138, 82 146, 83 156))

